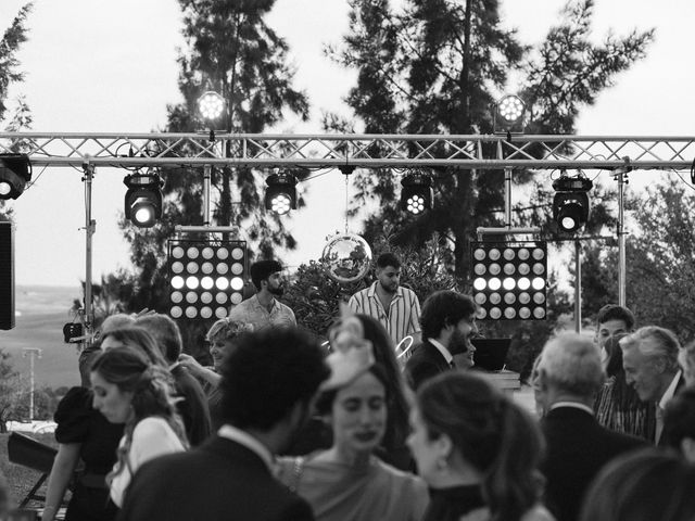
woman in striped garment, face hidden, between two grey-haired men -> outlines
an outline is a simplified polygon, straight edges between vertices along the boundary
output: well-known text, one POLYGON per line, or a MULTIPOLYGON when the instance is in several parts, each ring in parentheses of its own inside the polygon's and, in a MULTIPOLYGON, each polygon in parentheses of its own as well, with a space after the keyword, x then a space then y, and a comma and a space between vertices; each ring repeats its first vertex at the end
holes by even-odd
POLYGON ((606 429, 652 441, 656 425, 654 404, 642 402, 626 381, 620 348, 620 340, 626 336, 626 333, 616 334, 604 343, 604 369, 608 379, 596 395, 594 411, 598 423, 606 429))

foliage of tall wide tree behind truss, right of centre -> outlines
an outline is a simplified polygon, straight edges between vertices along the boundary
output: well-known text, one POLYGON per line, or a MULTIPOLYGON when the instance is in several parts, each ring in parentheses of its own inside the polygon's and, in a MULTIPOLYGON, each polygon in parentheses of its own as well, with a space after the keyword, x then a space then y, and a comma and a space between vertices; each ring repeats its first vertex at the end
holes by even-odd
MULTIPOLYGON (((498 1, 407 0, 396 12, 388 0, 352 0, 351 31, 330 55, 358 73, 346 103, 366 132, 492 134, 492 103, 509 74, 519 77, 528 134, 571 134, 581 107, 594 103, 616 76, 644 56, 653 31, 590 39, 593 1, 573 0, 538 49, 521 43, 498 16, 498 1)), ((434 151, 435 152, 435 151, 434 151)), ((542 155, 542 151, 531 151, 542 155)), ((495 150, 483 149, 485 157, 495 150)), ((366 237, 382 221, 397 226, 403 242, 421 243, 433 232, 447 238, 456 275, 468 277, 468 244, 479 226, 500 226, 503 174, 434 171, 434 209, 417 218, 396 208, 397 176, 357 173, 356 206, 379 201, 366 237)), ((517 171, 525 183, 531 173, 517 171)), ((518 215, 519 225, 530 217, 518 215)))

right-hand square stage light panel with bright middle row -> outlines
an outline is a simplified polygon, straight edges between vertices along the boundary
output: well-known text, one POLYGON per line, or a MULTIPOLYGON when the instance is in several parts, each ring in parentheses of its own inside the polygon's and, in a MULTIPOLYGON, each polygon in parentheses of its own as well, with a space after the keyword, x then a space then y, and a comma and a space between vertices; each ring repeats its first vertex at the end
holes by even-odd
POLYGON ((471 266, 476 274, 472 296, 479 306, 478 318, 544 318, 546 257, 547 246, 543 241, 472 242, 471 266), (502 267, 500 263, 504 263, 502 267))

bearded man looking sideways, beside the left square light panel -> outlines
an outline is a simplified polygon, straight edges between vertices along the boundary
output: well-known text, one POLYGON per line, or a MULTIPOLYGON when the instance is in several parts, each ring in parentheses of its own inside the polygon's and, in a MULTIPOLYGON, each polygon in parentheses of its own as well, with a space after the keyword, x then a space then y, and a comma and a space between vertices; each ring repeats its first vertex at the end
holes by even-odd
POLYGON ((282 265, 277 260, 258 260, 251 265, 251 281, 257 293, 231 306, 227 318, 253 325, 253 330, 268 326, 296 326, 294 313, 276 297, 285 292, 282 265))

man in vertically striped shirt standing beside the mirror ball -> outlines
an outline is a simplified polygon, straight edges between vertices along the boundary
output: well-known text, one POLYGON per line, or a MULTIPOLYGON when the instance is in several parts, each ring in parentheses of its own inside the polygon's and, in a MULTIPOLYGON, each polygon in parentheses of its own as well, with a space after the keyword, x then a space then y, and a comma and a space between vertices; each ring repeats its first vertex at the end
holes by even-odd
POLYGON ((417 295, 402 288, 401 260, 392 253, 377 258, 377 281, 358 291, 348 303, 355 313, 369 315, 387 329, 394 346, 405 336, 420 340, 420 303, 417 295))

